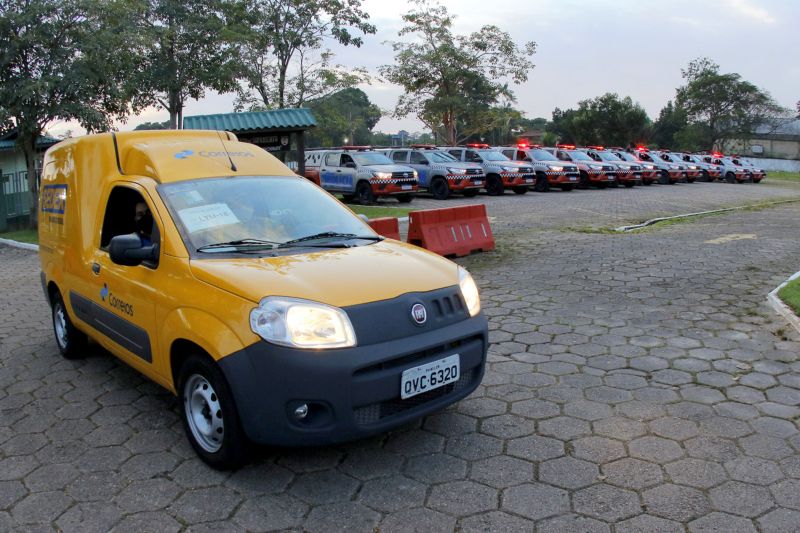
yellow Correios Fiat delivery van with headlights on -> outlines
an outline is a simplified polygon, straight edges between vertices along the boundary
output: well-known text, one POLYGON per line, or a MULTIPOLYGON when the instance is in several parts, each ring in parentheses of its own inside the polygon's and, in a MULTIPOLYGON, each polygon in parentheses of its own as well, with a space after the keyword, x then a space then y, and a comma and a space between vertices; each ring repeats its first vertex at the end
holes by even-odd
POLYGON ((216 131, 89 135, 47 151, 42 286, 61 353, 88 338, 175 393, 209 465, 251 442, 351 440, 480 383, 469 273, 378 236, 267 152, 216 131))

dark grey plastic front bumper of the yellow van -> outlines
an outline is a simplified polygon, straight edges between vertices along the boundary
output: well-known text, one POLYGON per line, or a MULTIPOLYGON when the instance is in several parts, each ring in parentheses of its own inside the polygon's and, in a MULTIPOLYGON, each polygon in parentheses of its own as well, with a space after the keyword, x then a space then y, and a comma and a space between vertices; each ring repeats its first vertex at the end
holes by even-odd
POLYGON ((300 350, 257 342, 222 358, 239 417, 254 442, 321 445, 381 433, 442 409, 483 379, 488 323, 474 318, 355 348, 300 350), (404 370, 459 355, 458 381, 400 398, 404 370), (307 406, 305 417, 296 410, 307 406))

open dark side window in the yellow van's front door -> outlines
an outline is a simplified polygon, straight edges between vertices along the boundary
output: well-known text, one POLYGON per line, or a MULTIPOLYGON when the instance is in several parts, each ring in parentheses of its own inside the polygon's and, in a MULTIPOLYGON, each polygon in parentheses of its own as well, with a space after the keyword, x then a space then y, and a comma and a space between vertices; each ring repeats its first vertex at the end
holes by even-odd
POLYGON ((106 250, 112 238, 130 233, 139 235, 143 246, 156 244, 160 238, 150 205, 138 191, 118 185, 108 195, 100 248, 106 250))

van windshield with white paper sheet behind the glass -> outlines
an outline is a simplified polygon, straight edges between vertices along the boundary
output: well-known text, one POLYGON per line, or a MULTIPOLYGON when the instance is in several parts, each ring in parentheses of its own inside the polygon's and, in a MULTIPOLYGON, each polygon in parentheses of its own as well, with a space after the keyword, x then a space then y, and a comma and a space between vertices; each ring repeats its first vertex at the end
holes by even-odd
MULTIPOLYGON (((299 177, 199 179, 160 185, 158 193, 190 252, 220 243, 244 241, 239 247, 257 248, 261 243, 271 249, 319 234, 375 235, 342 204, 299 177)), ((353 245, 371 242, 359 240, 353 245)), ((232 245, 202 251, 240 250, 232 245)))

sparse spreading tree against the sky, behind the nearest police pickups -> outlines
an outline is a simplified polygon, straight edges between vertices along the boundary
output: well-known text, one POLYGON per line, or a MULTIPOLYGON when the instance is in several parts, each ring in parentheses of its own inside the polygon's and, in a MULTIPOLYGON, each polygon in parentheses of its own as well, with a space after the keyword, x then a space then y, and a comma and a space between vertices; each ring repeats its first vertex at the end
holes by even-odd
POLYGON ((497 118, 491 108, 501 100, 513 101, 508 84, 522 83, 534 67, 533 42, 518 46, 496 26, 483 26, 469 35, 454 35, 454 16, 444 6, 414 0, 403 15, 399 35, 412 42, 393 42, 395 62, 381 73, 405 93, 395 116, 416 115, 445 142, 458 143, 491 129, 497 118))

